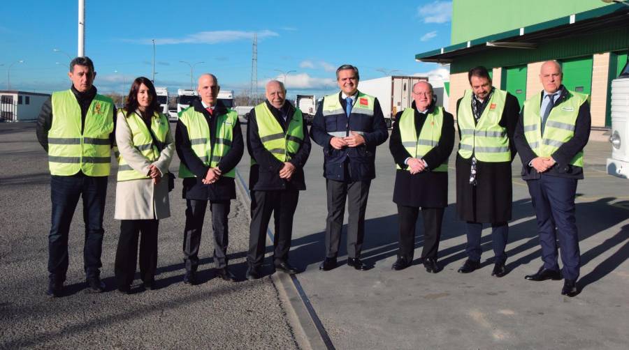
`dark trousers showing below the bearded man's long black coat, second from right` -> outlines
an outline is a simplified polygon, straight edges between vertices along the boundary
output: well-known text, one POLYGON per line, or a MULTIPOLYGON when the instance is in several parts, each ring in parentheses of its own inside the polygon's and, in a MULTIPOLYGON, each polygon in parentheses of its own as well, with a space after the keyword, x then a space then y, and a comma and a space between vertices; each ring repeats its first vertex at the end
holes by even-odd
MULTIPOLYGON (((470 260, 480 261, 482 249, 480 246, 483 224, 480 222, 465 223, 465 233, 468 236, 468 244, 465 245, 465 252, 470 260)), ((496 264, 507 261, 505 248, 507 247, 507 238, 509 236, 509 224, 507 222, 498 222, 491 224, 491 246, 496 264)))

